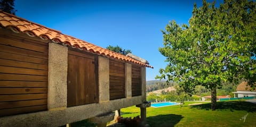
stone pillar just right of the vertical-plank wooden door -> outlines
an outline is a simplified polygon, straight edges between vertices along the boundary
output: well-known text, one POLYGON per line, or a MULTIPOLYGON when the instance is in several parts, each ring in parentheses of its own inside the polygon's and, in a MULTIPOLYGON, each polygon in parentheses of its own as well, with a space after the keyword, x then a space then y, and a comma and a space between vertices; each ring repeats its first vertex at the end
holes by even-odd
POLYGON ((109 59, 99 56, 99 102, 109 101, 109 59))

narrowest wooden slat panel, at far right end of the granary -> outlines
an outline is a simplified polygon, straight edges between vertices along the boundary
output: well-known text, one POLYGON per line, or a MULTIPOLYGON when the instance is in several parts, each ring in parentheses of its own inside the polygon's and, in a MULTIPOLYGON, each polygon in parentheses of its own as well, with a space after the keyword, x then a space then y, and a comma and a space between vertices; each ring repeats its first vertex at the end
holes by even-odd
POLYGON ((132 97, 141 95, 141 67, 132 64, 132 97))

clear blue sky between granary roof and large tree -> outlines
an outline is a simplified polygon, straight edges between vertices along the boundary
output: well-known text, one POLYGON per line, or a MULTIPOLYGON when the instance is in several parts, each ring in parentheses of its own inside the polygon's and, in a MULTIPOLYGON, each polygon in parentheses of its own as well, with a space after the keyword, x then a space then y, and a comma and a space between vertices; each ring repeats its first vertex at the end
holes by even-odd
POLYGON ((15 0, 15 9, 21 18, 94 45, 131 49, 154 66, 147 68, 148 81, 166 66, 165 57, 158 52, 163 47, 161 30, 172 20, 188 24, 195 2, 202 5, 201 0, 15 0))

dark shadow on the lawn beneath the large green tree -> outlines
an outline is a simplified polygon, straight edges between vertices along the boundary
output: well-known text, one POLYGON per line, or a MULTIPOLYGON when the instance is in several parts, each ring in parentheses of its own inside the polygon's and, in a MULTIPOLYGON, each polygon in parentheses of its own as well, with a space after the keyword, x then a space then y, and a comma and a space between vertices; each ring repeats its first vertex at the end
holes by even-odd
MULTIPOLYGON (((190 108, 211 110, 211 103, 202 105, 193 105, 190 108)), ((216 111, 247 111, 256 112, 256 104, 252 104, 246 101, 219 101, 217 102, 216 111)))

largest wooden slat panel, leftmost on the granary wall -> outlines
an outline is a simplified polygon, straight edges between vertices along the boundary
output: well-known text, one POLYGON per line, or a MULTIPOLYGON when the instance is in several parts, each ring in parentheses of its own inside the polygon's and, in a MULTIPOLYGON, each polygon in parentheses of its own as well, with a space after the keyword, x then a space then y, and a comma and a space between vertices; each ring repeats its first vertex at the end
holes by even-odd
POLYGON ((47 110, 48 44, 0 37, 0 116, 47 110))

